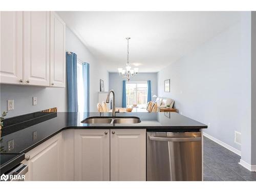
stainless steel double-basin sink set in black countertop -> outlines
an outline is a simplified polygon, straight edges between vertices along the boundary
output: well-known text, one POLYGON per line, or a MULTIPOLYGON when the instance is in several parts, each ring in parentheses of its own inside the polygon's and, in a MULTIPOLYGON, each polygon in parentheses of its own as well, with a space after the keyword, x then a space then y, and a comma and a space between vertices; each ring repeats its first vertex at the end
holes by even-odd
POLYGON ((139 117, 88 117, 81 121, 81 123, 140 123, 141 120, 139 117))

